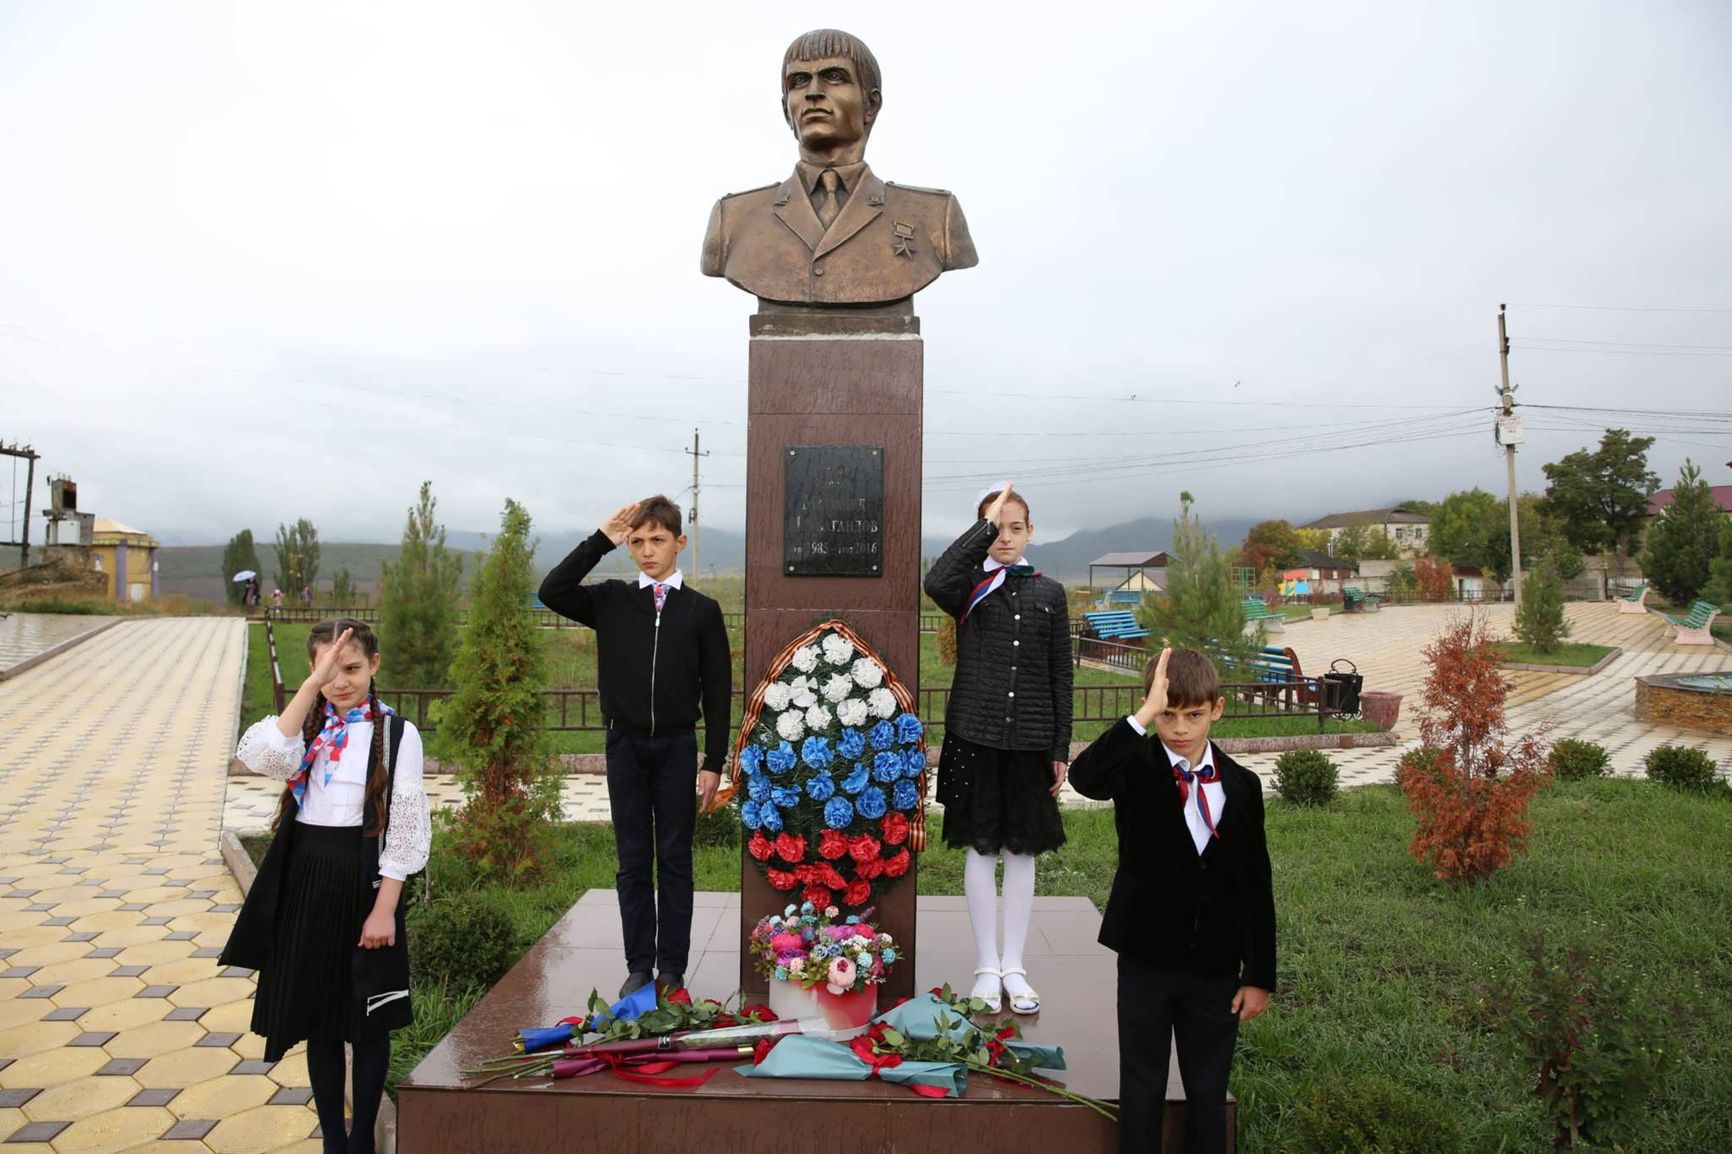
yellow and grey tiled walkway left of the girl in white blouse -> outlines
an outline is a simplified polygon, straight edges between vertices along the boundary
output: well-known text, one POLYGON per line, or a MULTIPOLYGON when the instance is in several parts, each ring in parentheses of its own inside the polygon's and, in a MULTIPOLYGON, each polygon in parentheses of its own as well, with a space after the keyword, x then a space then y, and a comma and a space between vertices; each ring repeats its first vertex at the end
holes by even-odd
POLYGON ((260 1060, 253 977, 216 967, 244 645, 234 619, 128 620, 0 683, 7 1151, 320 1149, 305 1059, 260 1060))

